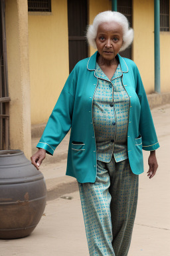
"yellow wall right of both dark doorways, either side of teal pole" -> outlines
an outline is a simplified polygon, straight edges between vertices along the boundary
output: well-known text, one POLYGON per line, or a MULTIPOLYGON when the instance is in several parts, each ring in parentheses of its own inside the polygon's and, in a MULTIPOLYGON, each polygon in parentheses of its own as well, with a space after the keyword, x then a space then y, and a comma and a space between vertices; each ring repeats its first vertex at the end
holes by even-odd
MULTIPOLYGON (((154 1, 133 0, 133 61, 137 64, 146 93, 155 91, 154 1)), ((170 91, 170 32, 160 32, 161 93, 170 91)))

